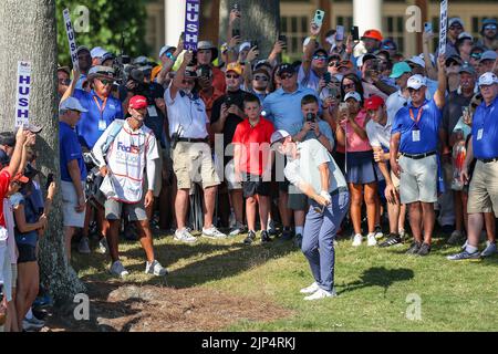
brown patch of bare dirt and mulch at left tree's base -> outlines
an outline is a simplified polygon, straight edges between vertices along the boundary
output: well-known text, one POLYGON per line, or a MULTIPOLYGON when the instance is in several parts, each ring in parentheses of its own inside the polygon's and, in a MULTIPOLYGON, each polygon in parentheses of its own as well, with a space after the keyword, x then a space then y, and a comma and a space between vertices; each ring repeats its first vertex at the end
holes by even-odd
POLYGON ((77 304, 72 303, 54 309, 41 331, 219 331, 241 320, 268 322, 291 314, 270 302, 205 288, 93 282, 87 290, 89 321, 74 319, 77 304))

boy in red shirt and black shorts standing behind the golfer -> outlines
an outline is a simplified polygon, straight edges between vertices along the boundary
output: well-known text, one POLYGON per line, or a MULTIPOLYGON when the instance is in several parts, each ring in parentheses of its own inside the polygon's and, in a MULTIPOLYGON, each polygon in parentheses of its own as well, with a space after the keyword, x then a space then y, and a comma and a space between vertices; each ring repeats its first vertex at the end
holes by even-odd
POLYGON ((261 243, 271 241, 267 232, 270 212, 271 152, 270 137, 273 124, 261 116, 261 104, 253 94, 243 98, 247 118, 237 125, 232 143, 236 178, 242 180, 246 198, 246 217, 249 228, 245 244, 256 239, 256 204, 259 205, 261 243))

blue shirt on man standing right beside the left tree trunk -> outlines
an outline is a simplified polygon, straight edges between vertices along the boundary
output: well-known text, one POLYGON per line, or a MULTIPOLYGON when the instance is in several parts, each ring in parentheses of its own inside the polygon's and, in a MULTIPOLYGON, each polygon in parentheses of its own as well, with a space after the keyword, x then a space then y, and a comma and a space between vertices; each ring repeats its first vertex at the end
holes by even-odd
POLYGON ((77 162, 80 167, 80 180, 86 179, 86 166, 83 160, 81 145, 77 142, 77 135, 74 129, 64 122, 59 122, 59 154, 61 156, 61 179, 72 183, 68 164, 72 160, 77 162))

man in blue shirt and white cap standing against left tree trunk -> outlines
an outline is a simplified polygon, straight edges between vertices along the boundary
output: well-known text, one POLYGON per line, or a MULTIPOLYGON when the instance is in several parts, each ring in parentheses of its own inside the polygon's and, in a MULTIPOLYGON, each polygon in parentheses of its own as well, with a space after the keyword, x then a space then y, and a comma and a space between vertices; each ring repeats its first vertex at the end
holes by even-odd
POLYGON ((71 260, 71 239, 75 228, 83 228, 85 223, 86 166, 74 129, 81 118, 81 113, 89 111, 74 97, 68 97, 59 106, 62 218, 68 261, 71 260))

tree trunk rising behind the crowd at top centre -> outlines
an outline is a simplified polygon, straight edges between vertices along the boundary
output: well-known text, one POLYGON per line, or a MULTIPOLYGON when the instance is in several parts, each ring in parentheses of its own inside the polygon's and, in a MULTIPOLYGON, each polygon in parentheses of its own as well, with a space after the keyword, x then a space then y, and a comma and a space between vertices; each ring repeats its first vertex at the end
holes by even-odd
POLYGON ((222 42, 227 40, 228 14, 234 3, 242 13, 239 24, 242 41, 258 41, 260 58, 268 58, 280 32, 280 1, 221 0, 219 34, 222 42))

